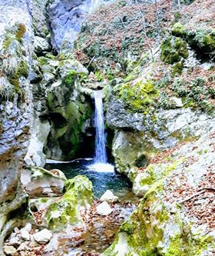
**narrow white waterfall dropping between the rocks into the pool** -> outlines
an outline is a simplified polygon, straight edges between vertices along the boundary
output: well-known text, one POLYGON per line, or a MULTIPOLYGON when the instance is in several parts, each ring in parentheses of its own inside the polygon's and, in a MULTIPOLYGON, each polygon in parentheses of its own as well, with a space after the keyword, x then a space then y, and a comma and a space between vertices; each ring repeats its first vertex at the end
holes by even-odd
POLYGON ((107 163, 107 152, 105 148, 105 135, 104 135, 104 112, 102 102, 102 92, 94 91, 95 103, 95 163, 107 163))

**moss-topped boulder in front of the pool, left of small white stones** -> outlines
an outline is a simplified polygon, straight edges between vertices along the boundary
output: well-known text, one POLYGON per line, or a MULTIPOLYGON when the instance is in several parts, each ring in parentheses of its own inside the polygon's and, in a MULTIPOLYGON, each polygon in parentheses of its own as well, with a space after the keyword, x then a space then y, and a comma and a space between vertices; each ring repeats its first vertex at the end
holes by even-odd
POLYGON ((45 214, 48 228, 60 231, 71 226, 83 226, 80 210, 92 203, 92 183, 87 177, 78 175, 65 182, 62 198, 51 203, 45 214))

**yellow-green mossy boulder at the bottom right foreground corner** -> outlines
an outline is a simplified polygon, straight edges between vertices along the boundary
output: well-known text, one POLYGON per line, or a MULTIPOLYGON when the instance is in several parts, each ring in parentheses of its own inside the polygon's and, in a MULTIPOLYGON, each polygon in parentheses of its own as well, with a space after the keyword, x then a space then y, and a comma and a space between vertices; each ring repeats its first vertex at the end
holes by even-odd
POLYGON ((102 256, 197 256, 208 248, 213 248, 213 237, 193 233, 192 224, 180 215, 177 205, 164 203, 151 190, 102 256))

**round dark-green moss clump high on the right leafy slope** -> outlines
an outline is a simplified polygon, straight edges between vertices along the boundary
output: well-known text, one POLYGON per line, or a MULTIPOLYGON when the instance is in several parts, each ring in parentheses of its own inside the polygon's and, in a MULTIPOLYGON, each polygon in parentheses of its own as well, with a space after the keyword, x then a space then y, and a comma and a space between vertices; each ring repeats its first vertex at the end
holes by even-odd
POLYGON ((172 65, 188 57, 187 43, 181 38, 171 36, 164 40, 160 48, 160 59, 167 64, 172 65))

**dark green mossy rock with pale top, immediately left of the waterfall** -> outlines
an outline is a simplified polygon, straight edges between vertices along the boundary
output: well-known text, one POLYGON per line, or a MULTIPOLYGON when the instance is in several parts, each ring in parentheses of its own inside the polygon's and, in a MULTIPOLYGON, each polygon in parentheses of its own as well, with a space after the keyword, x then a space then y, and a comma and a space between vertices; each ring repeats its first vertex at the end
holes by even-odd
POLYGON ((81 79, 88 70, 71 56, 62 54, 42 56, 37 61, 43 73, 42 82, 48 85, 45 95, 51 133, 45 153, 48 158, 71 160, 78 157, 84 124, 91 118, 91 98, 81 90, 81 79))

